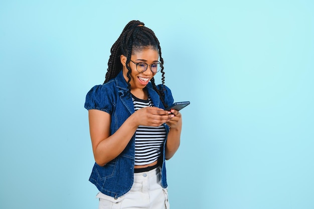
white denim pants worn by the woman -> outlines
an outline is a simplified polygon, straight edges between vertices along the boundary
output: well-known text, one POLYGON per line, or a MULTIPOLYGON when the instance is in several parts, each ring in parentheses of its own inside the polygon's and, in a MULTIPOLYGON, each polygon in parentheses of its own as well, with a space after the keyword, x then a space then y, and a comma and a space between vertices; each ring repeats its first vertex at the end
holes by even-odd
POLYGON ((117 199, 99 192, 99 209, 169 209, 168 190, 161 186, 161 168, 134 173, 131 190, 117 199))

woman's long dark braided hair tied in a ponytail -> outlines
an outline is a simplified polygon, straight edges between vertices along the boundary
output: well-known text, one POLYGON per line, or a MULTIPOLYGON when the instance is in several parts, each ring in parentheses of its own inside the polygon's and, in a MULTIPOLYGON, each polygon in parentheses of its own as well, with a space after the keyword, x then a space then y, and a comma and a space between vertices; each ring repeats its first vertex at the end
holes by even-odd
MULTIPOLYGON (((110 79, 115 78, 119 72, 122 70, 122 64, 120 61, 120 56, 124 55, 126 57, 126 68, 127 72, 127 85, 130 92, 130 73, 131 68, 128 66, 132 52, 153 48, 158 50, 159 59, 162 64, 164 64, 164 59, 162 58, 162 49, 160 47, 160 43, 155 36, 154 32, 149 28, 144 26, 144 23, 140 21, 130 21, 123 29, 121 35, 117 39, 117 41, 112 45, 110 52, 111 55, 108 61, 108 69, 106 73, 106 78, 104 83, 108 82, 110 79)), ((162 66, 162 89, 158 89, 155 85, 155 80, 152 77, 150 82, 152 84, 153 89, 158 93, 163 102, 164 106, 167 108, 168 105, 165 103, 165 93, 164 93, 164 85, 165 85, 165 72, 164 67, 162 66)))

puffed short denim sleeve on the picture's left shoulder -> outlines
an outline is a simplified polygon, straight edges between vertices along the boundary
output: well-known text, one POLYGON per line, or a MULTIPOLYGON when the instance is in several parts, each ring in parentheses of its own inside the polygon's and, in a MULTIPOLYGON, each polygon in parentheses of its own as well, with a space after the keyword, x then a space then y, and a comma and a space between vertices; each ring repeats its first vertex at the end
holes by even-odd
POLYGON ((103 85, 96 85, 91 88, 86 95, 84 107, 87 110, 95 109, 111 114, 113 105, 108 88, 103 85))

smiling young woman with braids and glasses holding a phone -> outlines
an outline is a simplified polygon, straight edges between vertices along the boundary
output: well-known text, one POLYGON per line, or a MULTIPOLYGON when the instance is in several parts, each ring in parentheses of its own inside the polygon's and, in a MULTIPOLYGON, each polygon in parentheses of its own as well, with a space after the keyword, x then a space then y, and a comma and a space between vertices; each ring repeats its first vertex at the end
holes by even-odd
POLYGON ((155 34, 131 21, 111 48, 104 84, 87 93, 99 208, 169 208, 165 160, 179 148, 182 118, 165 110, 174 99, 163 64, 155 34))

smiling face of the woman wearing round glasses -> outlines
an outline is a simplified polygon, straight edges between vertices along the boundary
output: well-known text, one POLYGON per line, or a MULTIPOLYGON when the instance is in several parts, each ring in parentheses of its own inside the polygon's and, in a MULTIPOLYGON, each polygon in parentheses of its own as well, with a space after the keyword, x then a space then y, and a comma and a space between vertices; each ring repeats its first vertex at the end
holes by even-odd
MULTIPOLYGON (((126 57, 124 55, 121 55, 120 59, 121 59, 122 65, 123 65, 124 79, 126 81, 128 81, 128 78, 126 76, 128 70, 125 66, 126 57)), ((148 84, 150 79, 156 74, 156 73, 151 72, 149 65, 154 64, 154 63, 158 63, 158 59, 159 59, 158 51, 152 47, 137 50, 137 51, 132 53, 131 61, 128 64, 132 70, 131 74, 130 74, 130 76, 131 76, 131 81, 130 81, 131 90, 143 89, 148 84), (142 73, 139 73, 136 70, 136 64, 134 64, 132 61, 134 63, 146 63, 146 64, 148 64, 147 70, 142 72, 142 73)))

